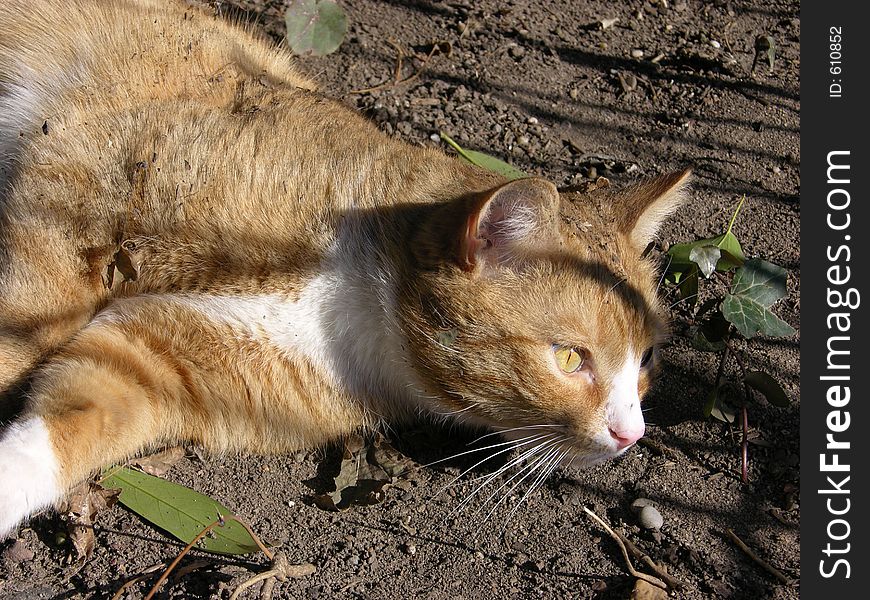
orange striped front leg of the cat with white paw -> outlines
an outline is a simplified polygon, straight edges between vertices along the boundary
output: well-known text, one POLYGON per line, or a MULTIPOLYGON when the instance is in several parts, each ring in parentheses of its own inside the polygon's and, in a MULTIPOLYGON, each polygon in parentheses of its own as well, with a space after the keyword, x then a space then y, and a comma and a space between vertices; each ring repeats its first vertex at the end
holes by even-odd
POLYGON ((293 323, 282 321, 279 338, 263 326, 269 305, 239 302, 116 300, 37 369, 24 413, 0 431, 0 538, 100 467, 151 447, 280 452, 366 424, 327 369, 282 341, 293 323))

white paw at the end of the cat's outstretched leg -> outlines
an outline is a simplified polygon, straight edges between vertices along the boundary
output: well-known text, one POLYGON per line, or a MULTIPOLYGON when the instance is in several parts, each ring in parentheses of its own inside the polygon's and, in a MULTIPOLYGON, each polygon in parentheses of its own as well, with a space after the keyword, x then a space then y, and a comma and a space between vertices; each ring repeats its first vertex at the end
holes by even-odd
POLYGON ((0 431, 0 540, 60 496, 58 463, 48 429, 39 417, 0 431))

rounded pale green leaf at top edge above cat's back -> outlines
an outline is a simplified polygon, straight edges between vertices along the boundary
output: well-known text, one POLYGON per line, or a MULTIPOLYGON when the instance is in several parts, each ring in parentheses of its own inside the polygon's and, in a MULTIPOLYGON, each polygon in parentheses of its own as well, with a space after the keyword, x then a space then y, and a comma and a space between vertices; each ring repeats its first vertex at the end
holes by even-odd
POLYGON ((289 0, 284 22, 287 43, 296 54, 335 52, 347 33, 347 15, 331 0, 289 0))

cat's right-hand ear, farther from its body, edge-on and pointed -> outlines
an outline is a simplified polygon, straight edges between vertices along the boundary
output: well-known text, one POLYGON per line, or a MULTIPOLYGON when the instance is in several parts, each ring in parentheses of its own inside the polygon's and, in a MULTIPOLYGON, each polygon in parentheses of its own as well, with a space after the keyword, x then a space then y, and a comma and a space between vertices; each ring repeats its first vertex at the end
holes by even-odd
POLYGON ((660 175, 629 188, 616 200, 617 227, 638 254, 655 238, 665 219, 687 200, 691 174, 685 169, 660 175))

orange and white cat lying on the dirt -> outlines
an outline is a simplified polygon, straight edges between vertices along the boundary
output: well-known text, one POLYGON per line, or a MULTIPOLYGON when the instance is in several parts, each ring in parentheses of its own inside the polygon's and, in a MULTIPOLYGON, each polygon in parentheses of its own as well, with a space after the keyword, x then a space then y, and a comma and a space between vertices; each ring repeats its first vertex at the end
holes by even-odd
POLYGON ((5 0, 0 538, 180 441, 288 452, 429 414, 547 464, 622 454, 667 332, 647 250, 689 177, 507 180, 201 8, 5 0))

